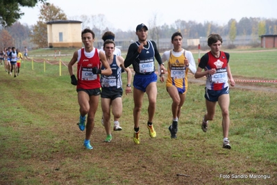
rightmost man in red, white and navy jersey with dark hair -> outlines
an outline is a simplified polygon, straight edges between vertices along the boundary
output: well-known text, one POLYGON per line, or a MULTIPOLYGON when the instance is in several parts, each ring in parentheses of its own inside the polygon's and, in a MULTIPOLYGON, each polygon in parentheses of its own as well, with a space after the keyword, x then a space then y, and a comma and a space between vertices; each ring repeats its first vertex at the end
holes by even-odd
POLYGON ((207 113, 205 113, 202 120, 202 130, 208 130, 208 120, 213 120, 215 117, 215 106, 217 102, 221 108, 222 127, 223 127, 223 147, 230 149, 230 142, 228 140, 229 131, 229 85, 235 86, 230 66, 228 65, 229 54, 220 51, 222 45, 222 38, 218 34, 210 34, 208 37, 208 46, 210 52, 202 56, 194 77, 196 79, 206 76, 205 86, 205 104, 207 113), (204 70, 204 71, 203 71, 204 70), (203 71, 203 72, 202 72, 203 71))

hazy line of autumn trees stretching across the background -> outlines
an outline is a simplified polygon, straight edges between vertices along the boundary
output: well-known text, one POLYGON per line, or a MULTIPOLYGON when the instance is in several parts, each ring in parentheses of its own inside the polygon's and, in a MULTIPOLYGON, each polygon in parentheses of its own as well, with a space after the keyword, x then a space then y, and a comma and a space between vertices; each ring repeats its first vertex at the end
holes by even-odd
MULTIPOLYGON (((6 1, 6 0, 4 0, 6 1)), ((13 0, 15 1, 15 0, 13 0)), ((33 3, 37 3, 33 0, 33 3)), ((0 8, 1 13, 1 8, 0 8)), ((264 19, 260 17, 242 17, 240 21, 230 19, 226 25, 218 25, 214 22, 199 23, 195 21, 186 21, 177 19, 174 24, 163 24, 158 26, 157 16, 148 22, 149 39, 160 40, 162 38, 171 38, 172 33, 180 31, 184 38, 207 37, 210 33, 219 33, 227 36, 231 41, 235 40, 237 35, 259 35, 277 34, 277 19, 264 19)), ((15 17, 16 19, 16 17, 15 17)), ((80 15, 70 17, 71 20, 83 22, 82 29, 90 28, 96 33, 96 39, 101 40, 101 35, 105 31, 112 31, 117 39, 136 40, 135 31, 121 31, 110 26, 105 15, 80 15)), ((3 22, 3 17, 0 17, 3 22)), ((40 15, 35 25, 21 24, 18 21, 1 24, 0 26, 0 48, 15 46, 17 48, 44 48, 47 43, 47 22, 53 20, 67 20, 67 15, 63 10, 53 3, 43 3, 40 7, 40 15)), ((81 33, 80 33, 81 34, 81 33)))

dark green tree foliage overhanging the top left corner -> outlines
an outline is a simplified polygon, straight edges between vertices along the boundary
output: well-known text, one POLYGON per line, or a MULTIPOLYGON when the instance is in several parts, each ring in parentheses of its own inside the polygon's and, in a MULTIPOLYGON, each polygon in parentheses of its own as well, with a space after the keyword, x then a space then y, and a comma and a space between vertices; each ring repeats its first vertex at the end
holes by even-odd
POLYGON ((1 0, 0 24, 4 27, 11 26, 24 15, 20 12, 20 6, 34 7, 38 2, 46 3, 47 0, 1 0))

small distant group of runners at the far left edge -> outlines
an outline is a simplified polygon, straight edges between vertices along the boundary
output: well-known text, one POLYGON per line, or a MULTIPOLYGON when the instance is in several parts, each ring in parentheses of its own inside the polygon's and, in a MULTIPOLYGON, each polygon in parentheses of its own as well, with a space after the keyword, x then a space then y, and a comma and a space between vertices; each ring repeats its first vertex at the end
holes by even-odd
MULTIPOLYGON (((24 49, 24 56, 28 59, 28 49, 26 47, 24 49)), ((22 53, 19 49, 15 49, 15 47, 4 47, 0 50, 0 64, 4 65, 6 73, 10 76, 12 76, 12 72, 14 72, 14 77, 19 75, 22 60, 22 53)))

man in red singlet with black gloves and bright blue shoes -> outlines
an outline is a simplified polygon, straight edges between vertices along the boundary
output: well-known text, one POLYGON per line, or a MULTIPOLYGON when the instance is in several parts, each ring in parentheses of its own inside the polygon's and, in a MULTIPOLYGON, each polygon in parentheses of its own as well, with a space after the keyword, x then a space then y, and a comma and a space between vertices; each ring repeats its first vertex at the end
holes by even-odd
POLYGON ((110 75, 112 70, 105 54, 93 47, 94 32, 90 29, 84 29, 81 37, 85 47, 74 52, 72 60, 68 64, 68 71, 72 79, 72 85, 77 86, 78 104, 80 106, 78 127, 81 131, 85 130, 83 145, 88 150, 92 150, 90 136, 94 128, 94 116, 99 104, 101 88, 99 74, 110 75), (78 62, 77 79, 73 73, 73 66, 76 62, 78 62), (101 70, 101 63, 105 67, 105 70, 101 70), (86 125, 85 115, 87 115, 86 125))

